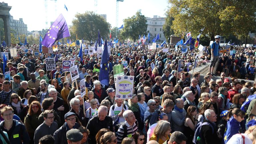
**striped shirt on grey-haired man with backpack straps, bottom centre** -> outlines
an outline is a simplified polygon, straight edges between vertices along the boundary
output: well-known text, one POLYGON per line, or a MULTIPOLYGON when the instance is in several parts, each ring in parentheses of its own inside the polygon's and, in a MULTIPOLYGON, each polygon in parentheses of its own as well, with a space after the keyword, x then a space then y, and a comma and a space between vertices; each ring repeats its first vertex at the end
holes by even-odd
MULTIPOLYGON (((136 120, 137 121, 137 120, 136 120)), ((134 122, 132 126, 130 126, 128 124, 127 121, 125 121, 125 125, 127 126, 127 135, 125 137, 133 137, 133 135, 135 134, 135 132, 138 130, 138 126, 136 125, 136 123, 134 122)), ((124 136, 124 128, 121 125, 117 131, 117 143, 121 144, 122 140, 123 140, 123 136, 124 136)))

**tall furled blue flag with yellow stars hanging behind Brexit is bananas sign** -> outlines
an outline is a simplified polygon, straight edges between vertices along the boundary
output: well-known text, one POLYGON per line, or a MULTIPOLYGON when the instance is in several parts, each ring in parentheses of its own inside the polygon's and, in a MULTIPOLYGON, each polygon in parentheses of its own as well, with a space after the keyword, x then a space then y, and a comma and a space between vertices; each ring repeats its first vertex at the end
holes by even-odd
POLYGON ((109 85, 109 70, 108 70, 108 61, 109 61, 109 54, 108 54, 108 43, 107 39, 105 40, 103 53, 100 62, 100 75, 99 81, 101 82, 102 86, 109 85))

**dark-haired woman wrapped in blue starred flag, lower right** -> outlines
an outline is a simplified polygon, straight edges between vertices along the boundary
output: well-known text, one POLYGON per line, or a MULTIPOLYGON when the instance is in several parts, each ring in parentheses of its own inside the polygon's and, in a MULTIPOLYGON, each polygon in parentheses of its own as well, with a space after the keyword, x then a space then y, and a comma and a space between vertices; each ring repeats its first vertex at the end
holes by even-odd
POLYGON ((242 133, 240 123, 244 120, 245 112, 239 108, 230 109, 228 113, 228 122, 226 125, 226 132, 224 133, 224 142, 235 134, 242 133))

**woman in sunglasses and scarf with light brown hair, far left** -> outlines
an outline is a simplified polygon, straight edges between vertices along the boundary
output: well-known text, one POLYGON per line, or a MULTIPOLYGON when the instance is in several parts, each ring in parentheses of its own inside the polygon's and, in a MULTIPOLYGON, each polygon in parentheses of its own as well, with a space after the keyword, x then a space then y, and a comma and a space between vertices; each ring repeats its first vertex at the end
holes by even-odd
POLYGON ((18 94, 12 93, 9 106, 13 108, 14 114, 18 115, 25 105, 21 102, 18 94))

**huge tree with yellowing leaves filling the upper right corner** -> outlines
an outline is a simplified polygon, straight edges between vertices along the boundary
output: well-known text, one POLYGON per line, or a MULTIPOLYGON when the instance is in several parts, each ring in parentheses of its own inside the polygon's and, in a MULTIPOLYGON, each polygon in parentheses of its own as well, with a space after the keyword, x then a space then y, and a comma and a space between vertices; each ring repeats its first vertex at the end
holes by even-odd
POLYGON ((175 34, 191 31, 192 36, 205 27, 203 35, 246 34, 255 30, 256 3, 237 0, 169 0, 175 34))

